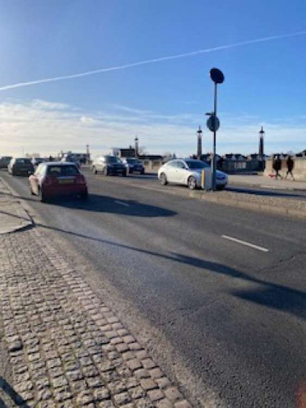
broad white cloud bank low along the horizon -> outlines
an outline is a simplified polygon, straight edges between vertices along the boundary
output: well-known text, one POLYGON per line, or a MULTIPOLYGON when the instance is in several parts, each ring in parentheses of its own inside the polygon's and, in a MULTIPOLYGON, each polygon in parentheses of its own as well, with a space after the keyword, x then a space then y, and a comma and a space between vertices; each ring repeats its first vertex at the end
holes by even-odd
MULTIPOLYGON (((203 151, 210 151, 212 134, 206 118, 193 113, 165 115, 128 108, 86 112, 57 102, 0 103, 1 154, 18 155, 39 151, 44 155, 61 150, 85 151, 90 144, 93 155, 108 152, 112 146, 129 146, 138 135, 141 146, 150 153, 175 152, 188 155, 196 150, 196 130, 203 128, 203 151), (119 111, 119 112, 118 112, 119 111)), ((228 113, 221 116, 217 146, 219 153, 253 153, 258 150, 258 131, 266 131, 266 152, 303 150, 306 120, 260 123, 250 115, 237 122, 228 113), (299 123, 299 125, 296 125, 299 123)))

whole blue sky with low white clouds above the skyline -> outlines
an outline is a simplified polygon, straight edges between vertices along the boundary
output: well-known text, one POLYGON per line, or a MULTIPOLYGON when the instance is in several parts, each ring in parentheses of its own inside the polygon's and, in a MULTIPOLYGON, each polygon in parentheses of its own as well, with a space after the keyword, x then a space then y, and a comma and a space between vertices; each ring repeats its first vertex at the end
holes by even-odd
MULTIPOLYGON (((0 88, 306 30, 306 2, 0 1, 0 88)), ((94 154, 138 135, 150 153, 189 155, 219 87, 218 153, 306 149, 306 34, 0 90, 0 154, 94 154), (3 151, 2 151, 3 150, 3 151)))

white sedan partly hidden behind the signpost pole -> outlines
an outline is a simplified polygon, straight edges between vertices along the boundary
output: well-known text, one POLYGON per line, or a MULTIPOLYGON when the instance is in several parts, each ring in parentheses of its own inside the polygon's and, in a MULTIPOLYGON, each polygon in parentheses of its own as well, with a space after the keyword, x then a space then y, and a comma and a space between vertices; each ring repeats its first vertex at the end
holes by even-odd
MULTIPOLYGON (((202 170, 210 167, 201 160, 194 159, 175 159, 170 160, 158 171, 158 178, 161 184, 168 183, 182 184, 194 190, 201 186, 202 170)), ((228 183, 227 174, 222 171, 216 171, 216 185, 218 189, 223 189, 228 183)))

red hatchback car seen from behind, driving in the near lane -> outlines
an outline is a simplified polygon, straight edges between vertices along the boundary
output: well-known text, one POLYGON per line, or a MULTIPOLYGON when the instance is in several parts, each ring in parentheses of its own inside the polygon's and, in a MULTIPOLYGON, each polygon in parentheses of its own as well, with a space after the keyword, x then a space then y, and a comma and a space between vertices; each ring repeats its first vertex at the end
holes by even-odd
POLYGON ((29 177, 30 192, 39 195, 42 202, 63 195, 78 195, 86 200, 86 179, 75 163, 46 162, 40 164, 29 177))

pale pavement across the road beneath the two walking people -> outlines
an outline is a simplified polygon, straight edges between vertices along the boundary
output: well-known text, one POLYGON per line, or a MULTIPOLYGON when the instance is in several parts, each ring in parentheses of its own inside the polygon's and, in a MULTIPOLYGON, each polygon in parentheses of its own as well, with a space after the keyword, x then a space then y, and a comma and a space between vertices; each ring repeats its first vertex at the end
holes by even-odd
POLYGON ((275 188, 277 190, 306 191, 306 182, 293 180, 275 180, 264 175, 229 175, 229 185, 241 184, 251 187, 275 188))

